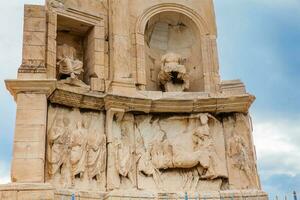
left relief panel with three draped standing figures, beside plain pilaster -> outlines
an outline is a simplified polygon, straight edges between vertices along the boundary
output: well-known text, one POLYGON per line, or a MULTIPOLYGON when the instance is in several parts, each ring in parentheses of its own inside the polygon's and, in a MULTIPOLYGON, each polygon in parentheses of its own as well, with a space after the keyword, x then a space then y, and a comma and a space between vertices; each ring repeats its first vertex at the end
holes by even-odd
POLYGON ((104 115, 49 107, 47 176, 56 186, 104 190, 104 115))

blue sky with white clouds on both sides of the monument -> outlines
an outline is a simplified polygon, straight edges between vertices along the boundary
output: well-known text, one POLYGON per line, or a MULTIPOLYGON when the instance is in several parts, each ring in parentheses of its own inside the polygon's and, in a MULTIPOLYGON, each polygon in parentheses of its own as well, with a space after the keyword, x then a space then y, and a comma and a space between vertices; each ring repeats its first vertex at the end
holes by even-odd
MULTIPOLYGON (((300 195, 300 0, 214 0, 220 73, 256 96, 250 113, 263 189, 300 195)), ((0 2, 0 184, 10 181, 15 102, 4 80, 21 64, 23 4, 0 2)))

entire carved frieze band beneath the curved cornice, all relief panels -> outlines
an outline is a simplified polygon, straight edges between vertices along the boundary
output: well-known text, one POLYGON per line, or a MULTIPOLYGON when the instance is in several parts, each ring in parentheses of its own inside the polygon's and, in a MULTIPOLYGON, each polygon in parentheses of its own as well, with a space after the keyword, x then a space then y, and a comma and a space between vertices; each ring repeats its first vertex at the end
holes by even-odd
POLYGON ((260 188, 247 115, 107 115, 49 107, 48 181, 100 191, 260 188))

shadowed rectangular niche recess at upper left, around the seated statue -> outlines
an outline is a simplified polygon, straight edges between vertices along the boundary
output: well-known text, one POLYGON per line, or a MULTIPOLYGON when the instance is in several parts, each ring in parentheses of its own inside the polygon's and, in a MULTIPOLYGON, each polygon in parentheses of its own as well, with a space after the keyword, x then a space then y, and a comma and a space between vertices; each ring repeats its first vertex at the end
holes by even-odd
MULTIPOLYGON (((90 85, 91 72, 95 63, 94 29, 94 25, 85 21, 62 15, 57 16, 56 61, 58 63, 66 56, 72 57, 71 62, 77 78, 87 85, 90 85), (80 70, 81 66, 83 72, 80 70)), ((61 73, 57 65, 57 80, 70 76, 68 70, 61 73)))

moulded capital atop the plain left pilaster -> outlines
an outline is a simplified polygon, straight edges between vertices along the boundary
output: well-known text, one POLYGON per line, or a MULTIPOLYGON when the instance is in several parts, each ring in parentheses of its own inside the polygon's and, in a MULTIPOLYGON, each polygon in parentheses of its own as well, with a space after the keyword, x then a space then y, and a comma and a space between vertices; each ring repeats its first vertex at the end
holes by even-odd
POLYGON ((15 100, 18 93, 46 94, 49 97, 56 88, 56 80, 5 80, 5 85, 15 100))

